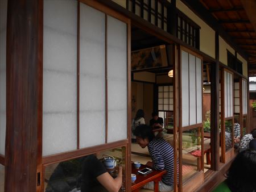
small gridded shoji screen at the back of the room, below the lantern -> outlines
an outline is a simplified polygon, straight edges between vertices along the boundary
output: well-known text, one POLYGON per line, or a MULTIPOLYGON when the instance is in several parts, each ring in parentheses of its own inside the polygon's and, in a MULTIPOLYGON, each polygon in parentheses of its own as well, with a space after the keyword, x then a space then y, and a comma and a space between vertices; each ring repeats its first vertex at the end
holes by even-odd
POLYGON ((174 87, 173 86, 158 87, 158 110, 159 111, 174 110, 174 87))

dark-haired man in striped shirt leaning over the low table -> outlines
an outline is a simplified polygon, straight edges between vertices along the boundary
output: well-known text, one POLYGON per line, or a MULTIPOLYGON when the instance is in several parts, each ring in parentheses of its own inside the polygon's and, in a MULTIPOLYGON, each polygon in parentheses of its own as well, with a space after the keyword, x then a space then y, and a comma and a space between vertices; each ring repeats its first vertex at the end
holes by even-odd
MULTIPOLYGON (((159 182, 159 191, 172 191, 174 186, 174 149, 162 137, 155 137, 151 127, 142 124, 135 128, 134 135, 137 143, 142 147, 148 147, 152 162, 148 166, 156 170, 166 170, 159 182)), ((149 182, 145 189, 154 189, 154 182, 149 182)))

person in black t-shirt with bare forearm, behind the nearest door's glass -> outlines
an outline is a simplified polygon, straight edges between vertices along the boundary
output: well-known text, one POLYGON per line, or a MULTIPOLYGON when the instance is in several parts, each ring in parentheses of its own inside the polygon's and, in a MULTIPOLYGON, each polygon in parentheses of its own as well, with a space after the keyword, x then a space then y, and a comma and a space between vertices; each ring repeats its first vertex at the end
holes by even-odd
POLYGON ((85 157, 82 164, 81 192, 119 191, 122 186, 122 166, 113 178, 95 155, 85 157))

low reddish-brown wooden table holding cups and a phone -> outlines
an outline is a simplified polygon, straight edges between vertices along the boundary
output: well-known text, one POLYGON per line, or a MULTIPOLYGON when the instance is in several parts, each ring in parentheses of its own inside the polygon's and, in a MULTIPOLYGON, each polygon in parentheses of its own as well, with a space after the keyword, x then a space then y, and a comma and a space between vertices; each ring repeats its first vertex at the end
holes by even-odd
POLYGON ((138 173, 138 170, 149 168, 147 165, 141 165, 139 169, 134 168, 134 165, 131 165, 131 173, 136 174, 137 179, 135 182, 131 183, 131 191, 138 192, 146 183, 154 181, 154 191, 159 191, 159 181, 163 174, 166 173, 166 170, 152 170, 151 173, 148 173, 146 176, 138 173))

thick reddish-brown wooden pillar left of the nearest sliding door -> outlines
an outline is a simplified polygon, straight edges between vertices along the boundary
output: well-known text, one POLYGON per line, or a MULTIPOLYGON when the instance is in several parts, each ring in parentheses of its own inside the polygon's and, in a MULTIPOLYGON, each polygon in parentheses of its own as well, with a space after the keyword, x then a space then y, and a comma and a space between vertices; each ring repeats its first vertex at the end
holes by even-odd
POLYGON ((8 1, 5 191, 36 191, 40 185, 42 10, 40 0, 8 1))

